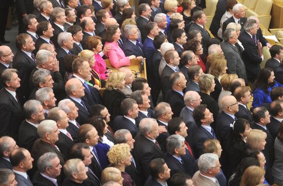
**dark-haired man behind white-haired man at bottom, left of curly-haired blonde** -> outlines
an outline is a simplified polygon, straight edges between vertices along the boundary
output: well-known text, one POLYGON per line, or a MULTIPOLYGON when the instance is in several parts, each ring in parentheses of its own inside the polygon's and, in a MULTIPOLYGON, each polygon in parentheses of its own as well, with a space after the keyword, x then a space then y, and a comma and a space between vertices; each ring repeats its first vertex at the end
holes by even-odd
POLYGON ((89 161, 90 157, 93 155, 91 154, 91 149, 84 143, 76 143, 71 151, 70 151, 70 158, 79 158, 85 165, 85 168, 88 170, 86 172, 87 178, 83 180, 84 185, 94 185, 100 186, 100 180, 98 176, 89 168, 91 161, 89 161))

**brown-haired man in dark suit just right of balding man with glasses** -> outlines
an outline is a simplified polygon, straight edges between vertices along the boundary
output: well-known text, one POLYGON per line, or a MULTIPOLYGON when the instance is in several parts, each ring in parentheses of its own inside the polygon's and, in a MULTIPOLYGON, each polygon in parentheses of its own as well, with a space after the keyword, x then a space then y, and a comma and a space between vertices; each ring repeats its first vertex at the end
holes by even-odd
POLYGON ((235 113, 236 118, 243 118, 249 122, 253 122, 253 116, 246 104, 251 101, 250 88, 247 86, 240 86, 234 91, 234 96, 239 103, 239 111, 235 113))

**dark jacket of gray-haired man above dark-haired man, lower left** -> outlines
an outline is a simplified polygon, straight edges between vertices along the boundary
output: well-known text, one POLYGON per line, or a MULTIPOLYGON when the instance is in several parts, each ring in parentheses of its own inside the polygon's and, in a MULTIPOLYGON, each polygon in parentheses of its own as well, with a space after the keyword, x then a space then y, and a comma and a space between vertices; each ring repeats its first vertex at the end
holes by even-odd
POLYGON ((38 138, 37 128, 24 120, 19 129, 19 146, 31 152, 32 145, 38 138))

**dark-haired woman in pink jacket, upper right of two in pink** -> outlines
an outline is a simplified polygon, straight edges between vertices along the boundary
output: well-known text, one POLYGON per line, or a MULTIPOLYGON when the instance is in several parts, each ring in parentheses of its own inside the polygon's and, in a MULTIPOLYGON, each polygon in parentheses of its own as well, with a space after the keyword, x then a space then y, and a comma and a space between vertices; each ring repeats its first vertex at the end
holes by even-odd
POLYGON ((119 68, 122 66, 131 65, 132 59, 135 59, 135 55, 130 55, 126 57, 123 50, 118 45, 118 40, 120 40, 121 32, 117 25, 110 26, 105 34, 105 46, 111 46, 109 51, 105 53, 105 56, 109 59, 111 65, 114 68, 119 68))

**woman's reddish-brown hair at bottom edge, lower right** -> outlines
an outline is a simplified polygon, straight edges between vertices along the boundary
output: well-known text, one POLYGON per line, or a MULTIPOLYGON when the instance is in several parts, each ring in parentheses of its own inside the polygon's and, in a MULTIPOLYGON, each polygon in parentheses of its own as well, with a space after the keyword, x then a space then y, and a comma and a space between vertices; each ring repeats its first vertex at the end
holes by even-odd
POLYGON ((264 174, 266 174, 266 171, 259 166, 249 166, 243 173, 240 186, 258 185, 264 174))

